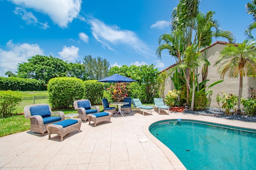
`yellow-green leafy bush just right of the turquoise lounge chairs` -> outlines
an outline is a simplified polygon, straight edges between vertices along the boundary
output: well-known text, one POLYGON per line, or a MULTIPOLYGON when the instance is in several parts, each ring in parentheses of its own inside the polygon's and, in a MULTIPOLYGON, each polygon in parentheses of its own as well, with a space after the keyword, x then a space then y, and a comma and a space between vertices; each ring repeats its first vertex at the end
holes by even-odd
POLYGON ((166 95, 165 102, 168 106, 180 106, 180 90, 170 90, 166 95))

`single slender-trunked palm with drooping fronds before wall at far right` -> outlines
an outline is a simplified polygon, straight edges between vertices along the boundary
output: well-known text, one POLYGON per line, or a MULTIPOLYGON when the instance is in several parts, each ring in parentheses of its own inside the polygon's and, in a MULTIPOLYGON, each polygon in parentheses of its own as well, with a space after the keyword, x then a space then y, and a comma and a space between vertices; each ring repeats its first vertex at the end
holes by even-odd
POLYGON ((241 114, 240 102, 242 97, 243 77, 256 76, 256 42, 245 40, 236 45, 229 44, 220 52, 220 57, 215 66, 219 66, 219 73, 222 78, 226 72, 231 78, 239 77, 238 110, 241 114))

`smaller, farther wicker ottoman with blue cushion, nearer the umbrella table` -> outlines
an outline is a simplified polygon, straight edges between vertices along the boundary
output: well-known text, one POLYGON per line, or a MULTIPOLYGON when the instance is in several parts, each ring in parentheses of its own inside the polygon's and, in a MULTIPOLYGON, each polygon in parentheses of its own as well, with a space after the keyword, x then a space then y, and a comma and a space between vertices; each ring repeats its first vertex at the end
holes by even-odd
POLYGON ((90 121, 94 122, 94 127, 96 127, 96 124, 102 121, 108 121, 110 123, 110 119, 112 117, 112 113, 109 111, 103 111, 100 113, 92 113, 87 115, 89 119, 89 124, 90 121))

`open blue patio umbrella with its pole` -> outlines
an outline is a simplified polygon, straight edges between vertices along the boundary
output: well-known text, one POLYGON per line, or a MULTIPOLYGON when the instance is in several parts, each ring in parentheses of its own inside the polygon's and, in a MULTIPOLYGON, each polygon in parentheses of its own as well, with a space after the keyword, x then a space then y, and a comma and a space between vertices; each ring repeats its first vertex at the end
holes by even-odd
POLYGON ((114 75, 109 76, 107 78, 103 78, 102 80, 99 80, 98 82, 116 83, 116 102, 117 102, 118 101, 117 83, 122 83, 122 82, 138 82, 138 81, 132 80, 131 78, 122 76, 120 74, 114 74, 114 75))

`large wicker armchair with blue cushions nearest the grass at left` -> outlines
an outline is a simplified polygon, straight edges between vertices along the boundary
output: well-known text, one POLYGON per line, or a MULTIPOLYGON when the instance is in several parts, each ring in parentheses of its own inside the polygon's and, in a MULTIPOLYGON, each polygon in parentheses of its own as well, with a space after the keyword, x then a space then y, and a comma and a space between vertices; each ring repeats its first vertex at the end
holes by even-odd
POLYGON ((24 107, 24 115, 27 119, 30 119, 30 131, 34 134, 44 134, 47 131, 47 125, 65 119, 62 111, 52 112, 48 104, 28 105, 24 107))

